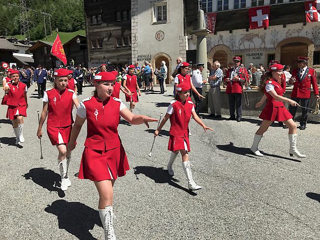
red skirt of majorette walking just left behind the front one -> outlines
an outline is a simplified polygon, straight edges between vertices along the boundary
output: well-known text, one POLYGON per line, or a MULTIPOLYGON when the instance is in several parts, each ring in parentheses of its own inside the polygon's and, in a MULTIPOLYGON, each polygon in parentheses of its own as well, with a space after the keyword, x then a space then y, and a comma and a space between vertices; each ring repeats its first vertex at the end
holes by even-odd
POLYGON ((47 125, 47 134, 52 145, 65 144, 69 142, 72 125, 66 127, 53 127, 47 125), (60 133, 60 137, 59 137, 60 133))

